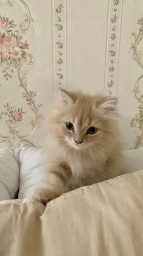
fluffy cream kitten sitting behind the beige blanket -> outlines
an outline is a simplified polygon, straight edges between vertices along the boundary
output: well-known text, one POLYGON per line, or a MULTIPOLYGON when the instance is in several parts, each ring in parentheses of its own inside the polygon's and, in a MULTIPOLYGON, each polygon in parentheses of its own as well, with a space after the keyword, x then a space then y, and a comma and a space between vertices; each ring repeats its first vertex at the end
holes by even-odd
POLYGON ((34 195, 48 201, 75 188, 122 174, 115 97, 60 89, 48 121, 47 187, 34 195))

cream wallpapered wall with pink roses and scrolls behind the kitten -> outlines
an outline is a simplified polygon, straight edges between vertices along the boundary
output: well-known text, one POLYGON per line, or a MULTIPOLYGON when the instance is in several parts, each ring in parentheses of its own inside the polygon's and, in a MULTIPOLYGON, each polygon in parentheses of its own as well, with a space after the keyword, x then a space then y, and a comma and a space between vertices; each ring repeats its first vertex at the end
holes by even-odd
POLYGON ((141 146, 142 0, 0 0, 0 15, 1 147, 44 146, 58 87, 117 94, 127 148, 141 146))

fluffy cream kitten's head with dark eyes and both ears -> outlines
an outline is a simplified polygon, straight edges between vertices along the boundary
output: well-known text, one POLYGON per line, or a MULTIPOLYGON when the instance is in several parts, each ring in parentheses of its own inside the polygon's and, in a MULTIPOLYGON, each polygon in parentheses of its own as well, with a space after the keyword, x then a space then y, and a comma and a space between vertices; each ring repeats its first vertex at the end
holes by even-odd
POLYGON ((77 150, 108 147, 118 137, 117 102, 104 94, 91 96, 60 89, 50 116, 50 136, 77 150))

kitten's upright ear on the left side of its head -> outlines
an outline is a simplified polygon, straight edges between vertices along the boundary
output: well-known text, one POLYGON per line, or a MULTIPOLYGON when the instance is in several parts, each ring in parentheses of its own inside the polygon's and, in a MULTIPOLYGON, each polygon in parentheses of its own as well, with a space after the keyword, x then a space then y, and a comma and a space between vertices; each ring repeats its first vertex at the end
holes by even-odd
POLYGON ((73 99, 70 97, 70 93, 62 88, 58 90, 59 101, 63 107, 69 107, 74 104, 73 99))

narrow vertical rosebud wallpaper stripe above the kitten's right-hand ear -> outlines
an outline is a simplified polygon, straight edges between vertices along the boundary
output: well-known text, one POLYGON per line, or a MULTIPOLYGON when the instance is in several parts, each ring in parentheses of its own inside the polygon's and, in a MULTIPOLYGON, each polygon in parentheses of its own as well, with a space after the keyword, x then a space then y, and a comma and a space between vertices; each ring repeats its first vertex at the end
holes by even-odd
POLYGON ((108 6, 107 57, 105 68, 105 92, 108 94, 116 94, 121 13, 122 0, 110 0, 108 6))

